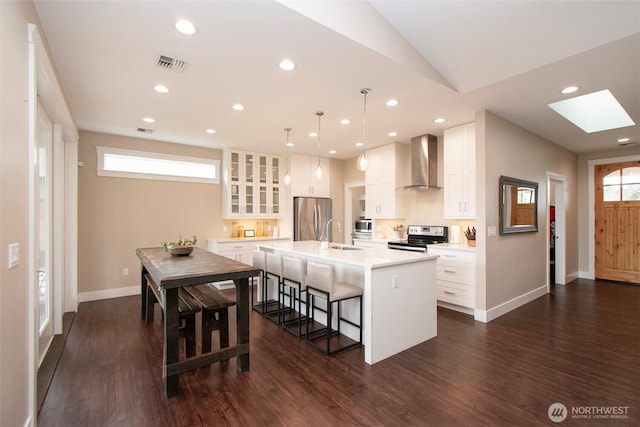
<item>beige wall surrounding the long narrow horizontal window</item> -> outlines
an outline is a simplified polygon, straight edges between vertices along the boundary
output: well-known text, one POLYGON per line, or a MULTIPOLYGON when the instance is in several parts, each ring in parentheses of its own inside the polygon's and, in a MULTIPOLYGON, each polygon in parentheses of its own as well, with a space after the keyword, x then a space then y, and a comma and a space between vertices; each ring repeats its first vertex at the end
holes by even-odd
MULTIPOLYGON (((81 132, 78 159, 78 293, 137 286, 138 247, 163 240, 206 238, 221 229, 221 184, 96 175, 96 145, 220 159, 221 151, 81 132), (122 274, 123 268, 129 275, 122 274)), ((83 298, 80 298, 82 301, 83 298)))

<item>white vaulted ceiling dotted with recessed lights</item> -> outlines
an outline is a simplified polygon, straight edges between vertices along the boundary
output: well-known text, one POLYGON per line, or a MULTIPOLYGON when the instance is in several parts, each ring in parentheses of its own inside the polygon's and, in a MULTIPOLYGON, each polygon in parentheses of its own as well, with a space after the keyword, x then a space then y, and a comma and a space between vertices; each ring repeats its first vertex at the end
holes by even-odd
POLYGON ((316 154, 309 133, 323 111, 322 155, 351 158, 362 139, 366 87, 369 148, 441 136, 483 109, 575 152, 640 141, 637 1, 35 4, 84 130, 284 153, 288 127, 294 152, 316 154), (183 18, 194 35, 174 29, 183 18), (162 55, 186 66, 160 67, 162 55), (283 58, 296 68, 281 70, 283 58), (169 93, 155 92, 156 84, 169 93), (569 85, 579 91, 561 94, 569 85), (547 106, 603 89, 635 125, 587 134, 547 106), (399 104, 385 105, 391 98, 399 104), (438 117, 446 121, 434 123, 438 117))

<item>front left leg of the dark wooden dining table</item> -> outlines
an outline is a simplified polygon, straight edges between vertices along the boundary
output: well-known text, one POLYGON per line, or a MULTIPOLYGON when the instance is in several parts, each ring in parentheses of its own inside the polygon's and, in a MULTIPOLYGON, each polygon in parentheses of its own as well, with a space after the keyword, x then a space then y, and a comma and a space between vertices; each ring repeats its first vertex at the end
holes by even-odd
POLYGON ((178 288, 163 289, 164 292, 164 351, 162 356, 162 378, 164 394, 171 397, 180 391, 179 375, 167 375, 167 366, 179 361, 178 347, 178 288))

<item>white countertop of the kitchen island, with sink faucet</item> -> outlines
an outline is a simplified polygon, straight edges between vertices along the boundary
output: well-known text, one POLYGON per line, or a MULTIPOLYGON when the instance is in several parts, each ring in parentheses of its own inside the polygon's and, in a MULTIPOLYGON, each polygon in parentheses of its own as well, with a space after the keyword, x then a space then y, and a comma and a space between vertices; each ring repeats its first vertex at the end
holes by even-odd
MULTIPOLYGON (((331 245, 347 246, 340 243, 331 245)), ((304 256, 306 259, 318 262, 332 262, 368 268, 381 268, 391 265, 410 264, 421 261, 435 260, 437 255, 422 252, 398 251, 387 248, 358 248, 357 250, 320 249, 320 242, 314 240, 298 242, 258 242, 258 249, 277 250, 282 254, 304 256)))

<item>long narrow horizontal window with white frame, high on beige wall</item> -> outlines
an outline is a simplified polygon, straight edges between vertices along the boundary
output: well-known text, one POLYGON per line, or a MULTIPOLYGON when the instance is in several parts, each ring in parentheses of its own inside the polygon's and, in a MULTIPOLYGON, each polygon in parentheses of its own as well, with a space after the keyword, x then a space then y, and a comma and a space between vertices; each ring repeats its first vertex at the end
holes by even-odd
POLYGON ((220 160, 96 146, 98 176, 220 183, 220 160))

